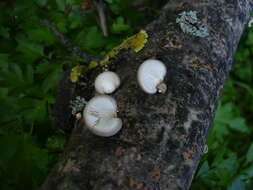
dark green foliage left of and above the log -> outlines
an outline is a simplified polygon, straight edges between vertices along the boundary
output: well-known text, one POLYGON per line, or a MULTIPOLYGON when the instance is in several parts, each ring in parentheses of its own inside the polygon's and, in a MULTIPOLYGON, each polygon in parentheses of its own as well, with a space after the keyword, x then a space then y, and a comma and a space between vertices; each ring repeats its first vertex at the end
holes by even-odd
MULTIPOLYGON (((83 50, 104 55, 141 24, 129 0, 107 1, 109 37, 97 11, 83 0, 0 2, 0 189, 37 189, 61 155, 67 137, 51 127, 51 112, 64 70, 83 64, 52 31, 51 23, 83 50), (128 17, 130 12, 134 16, 128 17)), ((140 18, 140 17, 138 17, 140 18)))

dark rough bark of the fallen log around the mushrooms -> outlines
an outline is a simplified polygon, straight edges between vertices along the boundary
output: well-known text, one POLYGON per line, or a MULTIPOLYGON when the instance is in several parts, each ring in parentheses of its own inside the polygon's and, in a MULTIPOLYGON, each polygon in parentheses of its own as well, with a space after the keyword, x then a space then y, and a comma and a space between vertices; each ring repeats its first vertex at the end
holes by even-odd
MULTIPOLYGON (((145 48, 122 51, 110 65, 122 80, 112 96, 123 129, 102 138, 80 123, 42 189, 189 189, 252 7, 252 0, 168 1, 161 16, 145 28, 145 48), (178 14, 190 10, 206 23, 208 37, 185 34, 176 24, 178 14), (149 58, 167 66, 166 94, 145 94, 137 84, 137 68, 149 58)), ((94 96, 94 77, 89 74, 90 85, 75 87, 75 93, 94 96)), ((61 108, 58 119, 68 109, 61 108)))

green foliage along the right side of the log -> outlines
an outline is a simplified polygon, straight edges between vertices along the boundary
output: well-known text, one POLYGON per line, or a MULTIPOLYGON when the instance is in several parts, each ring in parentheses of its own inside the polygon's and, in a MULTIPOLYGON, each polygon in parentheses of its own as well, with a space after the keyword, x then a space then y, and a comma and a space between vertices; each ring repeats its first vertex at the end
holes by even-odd
POLYGON ((253 187, 253 29, 236 54, 221 105, 209 132, 192 190, 251 190, 253 187))

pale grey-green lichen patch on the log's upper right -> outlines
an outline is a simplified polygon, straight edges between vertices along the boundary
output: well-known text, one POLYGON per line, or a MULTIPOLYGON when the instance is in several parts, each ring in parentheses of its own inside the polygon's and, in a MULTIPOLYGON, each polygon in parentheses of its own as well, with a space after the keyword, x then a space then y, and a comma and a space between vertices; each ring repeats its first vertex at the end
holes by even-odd
POLYGON ((197 18, 196 11, 182 12, 176 19, 184 33, 201 38, 209 36, 207 26, 197 18))

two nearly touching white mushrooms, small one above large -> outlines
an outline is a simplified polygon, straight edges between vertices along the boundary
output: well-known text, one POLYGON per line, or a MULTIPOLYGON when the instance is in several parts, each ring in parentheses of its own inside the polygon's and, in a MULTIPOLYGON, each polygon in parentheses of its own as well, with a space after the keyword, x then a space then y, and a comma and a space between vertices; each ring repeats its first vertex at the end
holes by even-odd
POLYGON ((111 71, 100 73, 95 79, 95 89, 99 95, 93 97, 83 110, 85 126, 95 135, 110 137, 122 127, 117 118, 116 100, 105 94, 113 93, 120 85, 119 76, 111 71))

